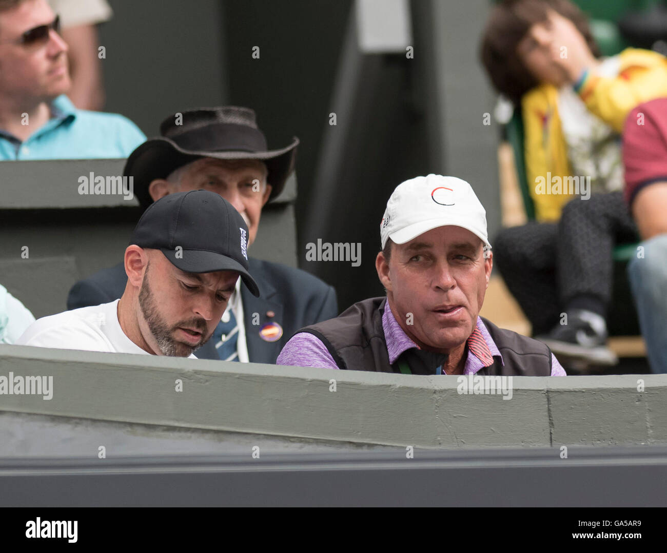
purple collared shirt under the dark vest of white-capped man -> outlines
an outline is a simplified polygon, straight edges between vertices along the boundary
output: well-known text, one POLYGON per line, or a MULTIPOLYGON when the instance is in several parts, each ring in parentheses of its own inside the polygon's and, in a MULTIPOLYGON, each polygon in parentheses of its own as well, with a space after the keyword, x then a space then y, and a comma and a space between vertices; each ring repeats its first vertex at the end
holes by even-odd
MULTIPOLYGON (((500 357, 500 362, 504 364, 496 342, 491 338, 491 334, 489 334, 480 317, 477 318, 477 328, 482 333, 492 356, 500 357)), ((418 347, 403 328, 401 328, 401 325, 398 324, 389 303, 385 305, 384 314, 382 314, 382 330, 384 330, 384 335, 386 336, 387 352, 391 364, 394 364, 404 351, 418 347)), ((558 359, 556 359, 553 353, 551 354, 551 361, 551 376, 566 376, 564 368, 560 366, 558 359)), ((319 338, 309 332, 299 332, 292 336, 280 352, 276 364, 338 368, 336 361, 333 360, 326 346, 319 338)), ((476 374, 482 368, 484 368, 484 362, 468 348, 468 357, 466 358, 466 366, 464 367, 463 374, 476 374)))

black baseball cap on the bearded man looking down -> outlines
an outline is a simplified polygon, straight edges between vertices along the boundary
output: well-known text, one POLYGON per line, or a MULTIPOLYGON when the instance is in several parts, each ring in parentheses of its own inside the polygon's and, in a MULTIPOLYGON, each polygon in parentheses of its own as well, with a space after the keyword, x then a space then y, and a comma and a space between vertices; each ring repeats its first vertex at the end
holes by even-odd
POLYGON ((245 221, 233 205, 214 192, 191 190, 152 203, 130 244, 161 251, 186 273, 237 271, 248 290, 259 296, 248 272, 247 237, 245 221))

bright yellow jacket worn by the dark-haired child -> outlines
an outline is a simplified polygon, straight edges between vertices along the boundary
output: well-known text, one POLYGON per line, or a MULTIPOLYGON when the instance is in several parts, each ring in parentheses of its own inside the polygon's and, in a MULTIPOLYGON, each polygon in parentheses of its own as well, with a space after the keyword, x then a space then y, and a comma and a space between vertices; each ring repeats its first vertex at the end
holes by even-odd
MULTIPOLYGON (((588 110, 620 133, 638 104, 667 97, 667 58, 650 51, 628 48, 620 53, 620 71, 613 79, 588 75, 578 92, 588 110)), ((528 189, 537 221, 557 221, 572 195, 538 195, 536 177, 570 175, 565 137, 558 116, 558 89, 539 85, 521 99, 528 189)))

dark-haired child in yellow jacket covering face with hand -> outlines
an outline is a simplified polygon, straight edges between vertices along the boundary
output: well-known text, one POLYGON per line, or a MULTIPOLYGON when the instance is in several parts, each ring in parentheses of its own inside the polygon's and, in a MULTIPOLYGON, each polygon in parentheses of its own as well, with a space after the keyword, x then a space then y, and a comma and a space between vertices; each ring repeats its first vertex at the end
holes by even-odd
POLYGON ((500 232, 497 267, 554 352, 614 364, 612 251, 636 239, 621 192, 620 133, 634 107, 667 96, 667 60, 639 49, 601 58, 567 0, 505 0, 488 21, 482 61, 521 107, 537 220, 500 232))

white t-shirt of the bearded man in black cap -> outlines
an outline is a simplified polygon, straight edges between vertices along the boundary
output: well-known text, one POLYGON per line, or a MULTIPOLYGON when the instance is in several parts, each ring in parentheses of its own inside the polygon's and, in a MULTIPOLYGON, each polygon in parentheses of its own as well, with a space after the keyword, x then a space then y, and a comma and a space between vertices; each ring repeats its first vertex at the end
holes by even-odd
MULTIPOLYGON (((33 322, 16 342, 21 346, 150 355, 130 340, 118 322, 119 300, 63 311, 33 322)), ((189 356, 196 359, 194 354, 189 356)))

